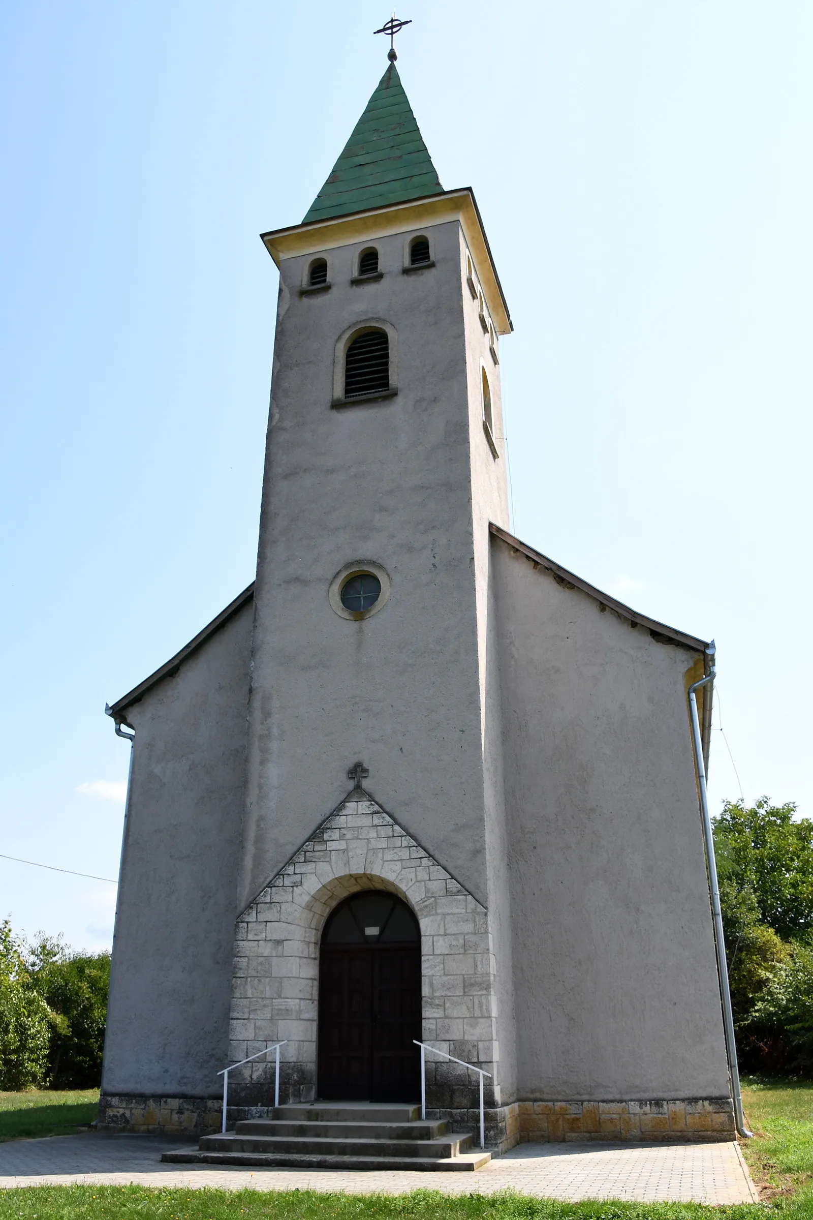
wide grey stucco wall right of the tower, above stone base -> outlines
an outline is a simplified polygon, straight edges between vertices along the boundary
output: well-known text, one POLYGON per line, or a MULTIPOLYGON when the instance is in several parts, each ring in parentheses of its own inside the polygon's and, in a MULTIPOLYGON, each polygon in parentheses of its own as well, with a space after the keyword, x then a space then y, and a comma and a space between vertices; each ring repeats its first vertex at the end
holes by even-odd
POLYGON ((524 1099, 724 1097, 691 650, 491 539, 524 1099))

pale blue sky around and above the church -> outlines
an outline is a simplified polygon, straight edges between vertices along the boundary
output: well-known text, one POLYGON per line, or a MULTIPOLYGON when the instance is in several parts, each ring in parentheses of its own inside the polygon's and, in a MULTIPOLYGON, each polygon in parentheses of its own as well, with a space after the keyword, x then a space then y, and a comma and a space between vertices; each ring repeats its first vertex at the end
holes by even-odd
MULTIPOLYGON (((116 877, 102 711, 254 575, 277 294, 386 66, 367 0, 0 11, 0 852, 116 877)), ((719 648, 711 792, 813 815, 813 6, 417 0, 399 70, 511 305, 514 531, 719 648), (739 773, 739 778, 737 778, 739 773)), ((0 859, 73 946, 115 886, 0 859)))

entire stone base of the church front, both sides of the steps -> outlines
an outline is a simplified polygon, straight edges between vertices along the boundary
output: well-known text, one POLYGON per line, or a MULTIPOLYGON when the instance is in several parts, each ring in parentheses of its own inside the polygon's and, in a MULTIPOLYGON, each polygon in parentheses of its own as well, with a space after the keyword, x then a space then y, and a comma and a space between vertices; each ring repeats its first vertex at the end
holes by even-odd
MULTIPOLYGON (((244 1119, 267 1119, 271 1110, 268 1105, 229 1105, 228 1126, 244 1119)), ((110 1094, 99 1100, 99 1130, 200 1137, 221 1130, 222 1113, 221 1098, 110 1094)), ((479 1146, 479 1109, 428 1108, 427 1118, 446 1120, 452 1131, 469 1132, 479 1146)), ((728 1097, 712 1097, 676 1102, 513 1102, 485 1111, 485 1146, 496 1153, 518 1143, 598 1139, 736 1139, 734 1107, 728 1097)))

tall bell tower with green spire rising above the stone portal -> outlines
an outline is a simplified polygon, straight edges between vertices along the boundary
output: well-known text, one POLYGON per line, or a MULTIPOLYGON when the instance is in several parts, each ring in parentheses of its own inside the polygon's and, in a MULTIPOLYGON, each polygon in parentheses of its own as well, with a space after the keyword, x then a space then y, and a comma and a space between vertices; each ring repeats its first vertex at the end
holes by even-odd
MULTIPOLYGON (((486 699, 511 321, 474 195, 442 190, 394 62, 304 222, 263 240, 280 285, 239 902, 361 760, 427 867, 507 913, 486 699)), ((496 1042, 481 999, 446 1005, 469 1053, 496 1042)))

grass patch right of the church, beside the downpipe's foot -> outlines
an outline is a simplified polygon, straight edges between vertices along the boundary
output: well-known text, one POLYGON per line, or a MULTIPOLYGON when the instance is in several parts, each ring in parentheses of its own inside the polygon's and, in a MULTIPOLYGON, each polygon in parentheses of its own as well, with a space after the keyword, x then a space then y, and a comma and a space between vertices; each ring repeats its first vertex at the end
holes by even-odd
POLYGON ((744 1077, 742 1103, 754 1133, 742 1153, 763 1197, 793 1193, 813 1216, 813 1085, 744 1077))

